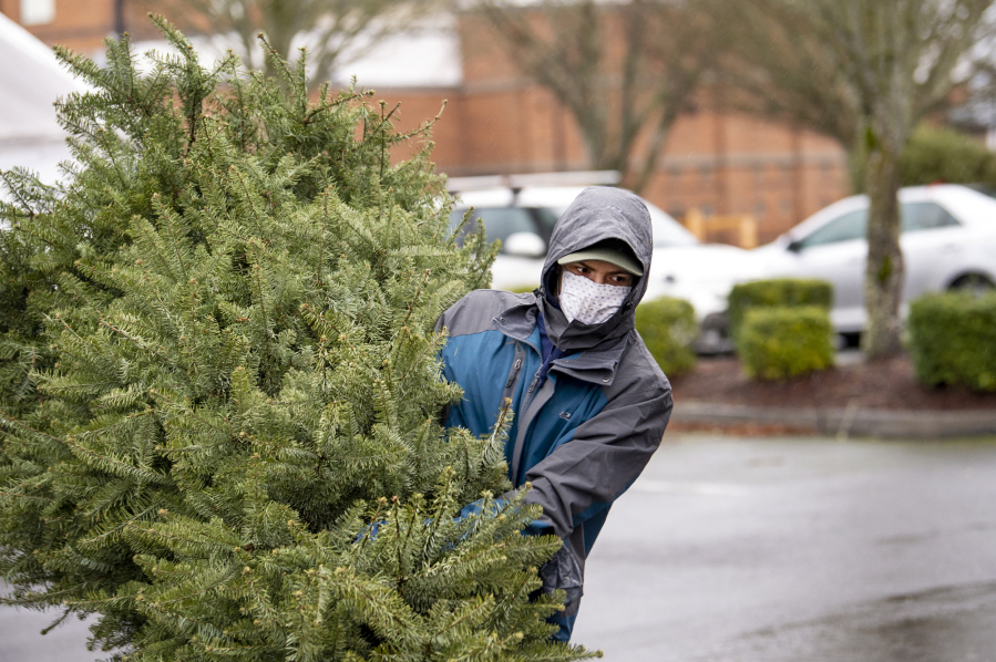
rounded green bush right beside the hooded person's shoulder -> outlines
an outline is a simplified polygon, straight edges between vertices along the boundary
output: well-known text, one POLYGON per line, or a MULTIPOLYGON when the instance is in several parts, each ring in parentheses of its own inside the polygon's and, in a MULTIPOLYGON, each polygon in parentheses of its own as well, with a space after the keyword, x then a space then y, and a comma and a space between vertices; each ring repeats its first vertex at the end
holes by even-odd
POLYGON ((695 368, 692 343, 699 328, 688 301, 661 297, 640 303, 636 308, 636 330, 665 373, 674 376, 695 368))

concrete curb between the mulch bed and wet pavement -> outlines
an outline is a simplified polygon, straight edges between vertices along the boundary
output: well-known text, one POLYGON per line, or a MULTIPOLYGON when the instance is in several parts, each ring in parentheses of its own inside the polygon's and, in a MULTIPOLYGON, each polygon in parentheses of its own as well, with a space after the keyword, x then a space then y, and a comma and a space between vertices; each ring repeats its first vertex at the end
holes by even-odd
POLYGON ((824 435, 882 438, 938 438, 996 434, 996 411, 899 411, 859 407, 758 407, 684 401, 675 403, 671 421, 680 424, 781 425, 824 435))

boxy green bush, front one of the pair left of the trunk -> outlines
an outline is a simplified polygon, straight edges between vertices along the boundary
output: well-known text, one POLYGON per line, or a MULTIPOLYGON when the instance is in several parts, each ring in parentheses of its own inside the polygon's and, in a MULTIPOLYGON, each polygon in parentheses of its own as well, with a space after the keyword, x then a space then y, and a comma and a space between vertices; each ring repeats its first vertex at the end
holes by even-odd
POLYGON ((833 365, 833 327, 819 306, 747 310, 736 337, 751 379, 781 380, 833 365))

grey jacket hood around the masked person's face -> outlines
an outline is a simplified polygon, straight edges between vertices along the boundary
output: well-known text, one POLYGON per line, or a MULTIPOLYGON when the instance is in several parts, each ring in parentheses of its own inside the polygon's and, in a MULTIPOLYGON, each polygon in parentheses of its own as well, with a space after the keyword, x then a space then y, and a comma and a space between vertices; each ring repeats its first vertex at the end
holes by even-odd
POLYGON ((620 188, 593 186, 585 188, 561 215, 553 235, 546 261, 543 263, 540 307, 546 320, 546 331, 554 344, 564 350, 587 350, 615 340, 633 330, 636 304, 647 291, 654 238, 650 214, 644 201, 620 188), (644 276, 633 286, 629 297, 618 312, 600 324, 567 323, 567 318, 554 306, 550 286, 554 282, 557 260, 605 239, 622 239, 644 267, 644 276))

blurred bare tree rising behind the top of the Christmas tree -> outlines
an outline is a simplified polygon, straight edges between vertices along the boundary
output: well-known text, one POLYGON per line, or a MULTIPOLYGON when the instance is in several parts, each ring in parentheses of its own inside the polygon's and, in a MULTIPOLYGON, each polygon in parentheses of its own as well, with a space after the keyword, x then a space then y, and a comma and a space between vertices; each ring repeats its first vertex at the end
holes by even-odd
POLYGON ((233 33, 242 55, 268 74, 257 34, 288 61, 307 46, 310 80, 321 84, 337 64, 356 59, 389 34, 413 27, 442 0, 142 0, 185 29, 233 33))

